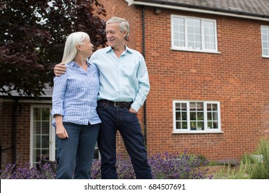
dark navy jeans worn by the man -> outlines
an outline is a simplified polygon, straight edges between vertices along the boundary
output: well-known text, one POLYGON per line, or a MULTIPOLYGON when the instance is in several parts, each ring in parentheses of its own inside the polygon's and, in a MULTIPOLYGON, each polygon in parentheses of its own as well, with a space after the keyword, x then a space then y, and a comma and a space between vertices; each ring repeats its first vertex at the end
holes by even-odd
POLYGON ((129 112, 128 108, 117 108, 101 102, 98 102, 97 113, 102 121, 98 137, 101 154, 101 178, 118 178, 115 165, 116 134, 119 130, 126 150, 130 155, 136 178, 152 179, 137 114, 129 112))

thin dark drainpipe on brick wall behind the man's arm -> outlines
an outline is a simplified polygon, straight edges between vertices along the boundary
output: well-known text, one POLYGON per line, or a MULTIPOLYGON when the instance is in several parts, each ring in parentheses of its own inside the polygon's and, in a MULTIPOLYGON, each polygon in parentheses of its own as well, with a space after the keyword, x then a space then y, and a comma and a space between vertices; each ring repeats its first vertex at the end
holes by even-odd
MULTIPOLYGON (((145 48, 145 9, 142 6, 142 46, 143 46, 143 57, 146 60, 146 48, 145 48)), ((144 110, 144 141, 145 146, 147 148, 147 108, 146 108, 147 100, 145 100, 143 105, 144 110)))

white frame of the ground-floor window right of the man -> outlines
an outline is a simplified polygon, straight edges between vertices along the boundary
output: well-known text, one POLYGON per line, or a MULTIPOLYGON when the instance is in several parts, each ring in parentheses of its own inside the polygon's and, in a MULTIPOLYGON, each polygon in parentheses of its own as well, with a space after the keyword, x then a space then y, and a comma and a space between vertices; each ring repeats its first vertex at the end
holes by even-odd
POLYGON ((219 101, 172 101, 172 113, 173 113, 173 131, 174 134, 197 134, 197 133, 223 133, 221 131, 221 108, 219 101), (203 103, 203 124, 205 126, 204 130, 190 130, 190 102, 203 103), (187 105, 187 129, 177 129, 177 121, 176 121, 176 103, 186 103, 187 105), (208 103, 217 104, 217 120, 218 120, 218 128, 210 129, 208 128, 208 116, 207 116, 207 105, 208 103))

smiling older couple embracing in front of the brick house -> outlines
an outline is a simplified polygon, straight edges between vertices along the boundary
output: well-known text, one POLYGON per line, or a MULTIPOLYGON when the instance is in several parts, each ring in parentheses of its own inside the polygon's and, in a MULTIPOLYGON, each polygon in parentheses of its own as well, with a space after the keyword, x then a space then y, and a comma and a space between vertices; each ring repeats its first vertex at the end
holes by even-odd
POLYGON ((96 141, 101 178, 117 179, 117 130, 136 178, 152 179, 137 119, 150 90, 148 70, 143 56, 126 46, 128 34, 128 21, 112 17, 106 22, 108 48, 92 54, 90 37, 84 32, 74 32, 66 40, 62 60, 66 65, 54 68, 51 113, 57 134, 56 179, 90 179, 96 141))

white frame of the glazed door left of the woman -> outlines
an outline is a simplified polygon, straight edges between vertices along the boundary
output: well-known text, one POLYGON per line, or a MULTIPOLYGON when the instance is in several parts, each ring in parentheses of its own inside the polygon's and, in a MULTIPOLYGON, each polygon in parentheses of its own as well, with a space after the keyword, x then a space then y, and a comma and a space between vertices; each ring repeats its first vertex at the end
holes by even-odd
MULTIPOLYGON (((34 108, 49 108, 52 110, 52 105, 31 105, 30 108, 30 164, 33 166, 33 121, 34 121, 34 108)), ((55 161, 55 128, 52 126, 52 116, 50 114, 50 123, 49 123, 50 137, 49 137, 49 156, 50 161, 55 161)))

